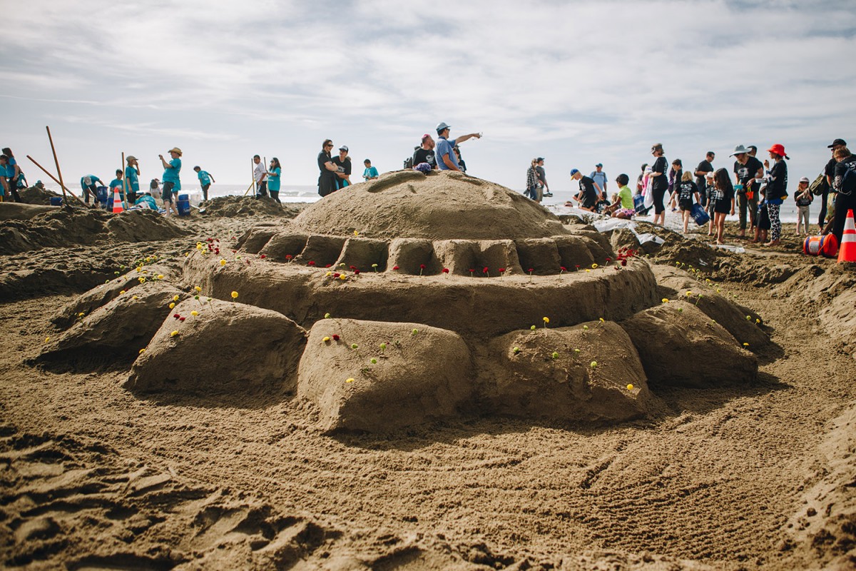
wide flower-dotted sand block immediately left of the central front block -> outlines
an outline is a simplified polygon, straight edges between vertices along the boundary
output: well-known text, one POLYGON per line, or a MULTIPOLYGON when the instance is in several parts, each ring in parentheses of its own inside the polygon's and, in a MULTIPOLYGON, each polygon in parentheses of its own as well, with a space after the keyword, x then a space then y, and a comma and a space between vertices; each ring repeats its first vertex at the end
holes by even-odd
POLYGON ((169 312, 124 386, 141 393, 265 390, 282 395, 294 390, 294 372, 305 343, 306 331, 280 313, 230 301, 200 304, 190 299, 169 312))

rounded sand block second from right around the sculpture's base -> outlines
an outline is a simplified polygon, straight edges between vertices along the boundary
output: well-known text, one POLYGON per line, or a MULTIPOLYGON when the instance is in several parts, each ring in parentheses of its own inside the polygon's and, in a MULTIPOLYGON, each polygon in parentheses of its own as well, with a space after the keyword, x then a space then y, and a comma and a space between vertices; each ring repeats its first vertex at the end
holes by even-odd
POLYGON ((669 301, 621 323, 652 386, 693 388, 746 384, 758 377, 758 359, 728 330, 686 301, 669 301))

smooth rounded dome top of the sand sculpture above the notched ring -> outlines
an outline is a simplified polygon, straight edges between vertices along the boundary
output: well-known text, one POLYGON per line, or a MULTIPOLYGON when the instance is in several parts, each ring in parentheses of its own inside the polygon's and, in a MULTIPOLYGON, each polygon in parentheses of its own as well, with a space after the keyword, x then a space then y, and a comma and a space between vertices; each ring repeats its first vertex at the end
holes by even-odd
POLYGON ((428 240, 546 238, 559 219, 522 194, 456 172, 400 170, 332 193, 294 225, 312 234, 428 240))

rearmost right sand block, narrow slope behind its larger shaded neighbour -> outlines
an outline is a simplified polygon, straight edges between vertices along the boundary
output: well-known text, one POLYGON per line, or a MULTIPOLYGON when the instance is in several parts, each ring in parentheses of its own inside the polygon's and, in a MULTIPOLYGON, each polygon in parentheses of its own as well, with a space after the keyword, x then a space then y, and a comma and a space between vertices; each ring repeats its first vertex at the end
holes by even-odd
POLYGON ((657 290, 661 299, 677 298, 690 301, 705 315, 722 325, 738 342, 749 343, 750 351, 770 344, 770 336, 758 326, 764 323, 761 316, 717 292, 716 286, 699 282, 686 271, 669 265, 652 264, 651 271, 657 278, 657 290), (687 292, 690 292, 690 295, 687 295, 687 292), (698 294, 702 296, 699 298, 698 294))

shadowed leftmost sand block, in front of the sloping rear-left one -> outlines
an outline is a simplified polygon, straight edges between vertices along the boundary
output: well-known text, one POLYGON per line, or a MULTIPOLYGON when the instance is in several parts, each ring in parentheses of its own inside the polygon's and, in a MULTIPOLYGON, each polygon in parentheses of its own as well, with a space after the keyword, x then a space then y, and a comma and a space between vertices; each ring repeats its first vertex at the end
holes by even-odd
POLYGON ((190 297, 171 283, 141 283, 77 318, 67 331, 45 344, 38 361, 131 362, 163 324, 176 295, 179 300, 190 297))

